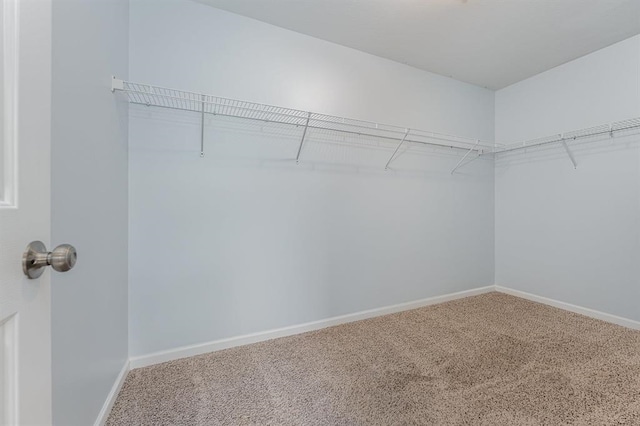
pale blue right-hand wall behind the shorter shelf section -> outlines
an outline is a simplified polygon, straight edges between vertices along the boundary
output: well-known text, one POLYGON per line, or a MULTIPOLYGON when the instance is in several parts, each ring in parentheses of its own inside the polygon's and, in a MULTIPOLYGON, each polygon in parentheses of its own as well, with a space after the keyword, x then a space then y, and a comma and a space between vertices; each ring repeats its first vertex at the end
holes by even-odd
MULTIPOLYGON (((640 36, 496 93, 515 142, 640 117, 640 36)), ((496 284, 640 320, 640 135, 496 161, 496 284)))

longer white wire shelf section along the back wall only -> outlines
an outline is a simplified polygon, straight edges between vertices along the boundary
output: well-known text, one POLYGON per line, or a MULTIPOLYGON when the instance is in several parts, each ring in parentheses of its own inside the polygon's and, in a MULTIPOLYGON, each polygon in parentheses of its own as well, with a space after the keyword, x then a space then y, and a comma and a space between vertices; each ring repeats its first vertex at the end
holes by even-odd
MULTIPOLYGON (((390 161, 387 162, 387 167, 398 153, 400 145, 406 143, 456 149, 468 153, 475 152, 477 155, 492 153, 496 149, 492 142, 477 139, 133 83, 116 78, 113 79, 112 90, 125 93, 129 102, 133 104, 192 111, 202 114, 203 118, 205 114, 210 114, 302 127, 304 133, 300 148, 304 142, 304 135, 307 131, 313 130, 392 140, 398 143, 398 147, 390 161)), ((204 145, 201 148, 201 154, 203 154, 204 145)), ((296 159, 298 160, 299 157, 300 149, 296 159)))

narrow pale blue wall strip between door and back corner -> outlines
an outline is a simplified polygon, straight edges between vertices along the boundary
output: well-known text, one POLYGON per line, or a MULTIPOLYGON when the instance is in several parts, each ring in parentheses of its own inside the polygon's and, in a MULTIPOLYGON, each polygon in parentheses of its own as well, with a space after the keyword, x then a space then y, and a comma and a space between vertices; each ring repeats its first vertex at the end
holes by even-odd
POLYGON ((128 0, 53 2, 52 243, 75 269, 52 272, 53 420, 93 424, 128 356, 128 0))

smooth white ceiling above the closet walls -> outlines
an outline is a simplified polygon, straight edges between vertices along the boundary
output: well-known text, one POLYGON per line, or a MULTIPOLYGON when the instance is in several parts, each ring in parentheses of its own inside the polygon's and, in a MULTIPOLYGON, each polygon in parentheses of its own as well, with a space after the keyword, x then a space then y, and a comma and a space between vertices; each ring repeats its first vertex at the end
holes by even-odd
POLYGON ((640 34, 640 0, 197 0, 500 89, 640 34))

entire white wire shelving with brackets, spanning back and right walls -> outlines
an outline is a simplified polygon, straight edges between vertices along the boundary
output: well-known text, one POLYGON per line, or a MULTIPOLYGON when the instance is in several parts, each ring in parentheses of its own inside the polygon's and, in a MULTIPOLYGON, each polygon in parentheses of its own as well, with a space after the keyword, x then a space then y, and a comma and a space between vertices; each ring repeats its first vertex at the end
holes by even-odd
POLYGON ((423 144, 433 147, 464 151, 464 156, 460 159, 458 164, 456 164, 451 173, 454 173, 458 168, 470 163, 480 156, 495 156, 509 152, 528 150, 530 148, 551 146, 553 144, 563 146, 574 167, 577 167, 576 160, 573 157, 568 143, 573 144, 574 141, 578 140, 588 140, 607 136, 614 137, 614 135, 618 133, 640 131, 639 117, 609 124, 602 124, 586 129, 574 130, 563 134, 532 139, 520 143, 499 144, 491 141, 481 141, 479 139, 471 139, 426 130, 408 129, 389 124, 374 123, 370 121, 337 117, 274 105, 223 98, 149 84, 133 83, 119 80, 115 77, 112 81, 112 91, 125 93, 129 102, 133 104, 191 111, 201 114, 201 156, 204 156, 204 117, 206 114, 303 128, 296 161, 300 159, 305 137, 307 136, 307 132, 310 130, 329 131, 346 135, 355 135, 358 137, 370 137, 374 139, 395 141, 397 146, 387 161, 385 169, 387 169, 389 164, 400 155, 400 148, 403 144, 423 144), (474 155, 470 156, 471 154, 474 155))

